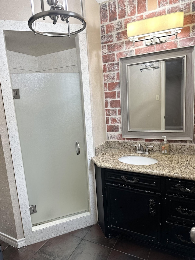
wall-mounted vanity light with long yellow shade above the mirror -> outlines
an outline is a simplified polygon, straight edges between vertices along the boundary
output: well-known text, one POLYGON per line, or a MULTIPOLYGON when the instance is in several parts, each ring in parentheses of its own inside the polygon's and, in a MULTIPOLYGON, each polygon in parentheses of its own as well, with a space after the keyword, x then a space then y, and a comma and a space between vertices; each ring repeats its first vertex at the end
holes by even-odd
POLYGON ((161 16, 156 16, 144 20, 139 20, 132 23, 127 23, 127 37, 129 41, 133 41, 133 45, 136 41, 151 40, 154 43, 160 43, 161 36, 159 34, 171 32, 168 36, 175 35, 181 32, 183 28, 183 12, 173 12, 161 16), (140 39, 140 37, 149 36, 147 39, 140 39), (158 38, 159 41, 155 42, 158 38))

